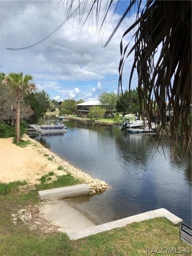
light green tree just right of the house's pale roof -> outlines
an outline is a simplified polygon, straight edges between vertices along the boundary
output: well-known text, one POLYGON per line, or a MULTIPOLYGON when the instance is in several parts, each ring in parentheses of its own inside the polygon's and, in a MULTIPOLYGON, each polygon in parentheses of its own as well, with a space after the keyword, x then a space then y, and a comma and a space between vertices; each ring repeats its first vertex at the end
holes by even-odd
POLYGON ((117 94, 115 92, 104 92, 99 95, 98 99, 102 106, 104 106, 107 111, 110 111, 111 114, 116 111, 117 94))

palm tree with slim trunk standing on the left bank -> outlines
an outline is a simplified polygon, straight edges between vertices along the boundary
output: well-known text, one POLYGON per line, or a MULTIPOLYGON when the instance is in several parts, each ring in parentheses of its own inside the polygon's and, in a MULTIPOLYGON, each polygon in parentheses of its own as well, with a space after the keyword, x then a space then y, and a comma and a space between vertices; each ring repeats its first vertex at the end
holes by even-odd
POLYGON ((23 75, 23 73, 11 72, 2 81, 6 84, 10 90, 10 93, 14 96, 14 103, 12 104, 12 109, 16 111, 16 142, 20 141, 20 106, 23 101, 24 94, 30 94, 36 91, 35 84, 30 83, 32 81, 32 76, 23 75))

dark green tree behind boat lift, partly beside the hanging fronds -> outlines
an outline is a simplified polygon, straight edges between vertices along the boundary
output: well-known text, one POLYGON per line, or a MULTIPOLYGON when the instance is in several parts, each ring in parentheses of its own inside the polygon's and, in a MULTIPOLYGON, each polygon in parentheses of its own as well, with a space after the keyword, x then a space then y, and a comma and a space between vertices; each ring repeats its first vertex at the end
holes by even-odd
POLYGON ((122 116, 125 116, 126 114, 134 114, 135 116, 140 117, 141 109, 138 89, 130 90, 130 94, 128 90, 125 90, 124 97, 120 94, 116 108, 118 112, 122 112, 122 116))

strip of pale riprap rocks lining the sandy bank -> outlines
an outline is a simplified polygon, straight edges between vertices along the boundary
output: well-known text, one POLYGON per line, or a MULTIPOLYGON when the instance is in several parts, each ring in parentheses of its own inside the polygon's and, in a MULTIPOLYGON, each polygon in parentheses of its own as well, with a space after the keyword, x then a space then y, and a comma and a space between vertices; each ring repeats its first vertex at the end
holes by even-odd
POLYGON ((26 134, 23 136, 23 140, 30 140, 33 144, 36 145, 34 150, 37 150, 37 151, 40 151, 40 152, 46 154, 48 159, 54 161, 59 166, 62 166, 74 178, 77 178, 80 181, 88 184, 90 187, 90 192, 89 192, 90 195, 94 195, 96 193, 100 193, 100 192, 103 192, 104 190, 106 190, 106 188, 107 188, 106 182, 104 182, 103 180, 94 179, 89 174, 86 174, 85 172, 75 168, 69 162, 63 160, 58 155, 51 152, 48 148, 45 148, 44 146, 42 146, 42 144, 40 144, 40 142, 33 140, 26 134))

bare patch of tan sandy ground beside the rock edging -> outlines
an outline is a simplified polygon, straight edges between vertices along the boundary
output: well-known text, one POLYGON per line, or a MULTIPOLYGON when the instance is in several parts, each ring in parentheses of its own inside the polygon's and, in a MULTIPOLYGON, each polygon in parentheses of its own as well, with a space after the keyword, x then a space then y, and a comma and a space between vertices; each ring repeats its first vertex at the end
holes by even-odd
POLYGON ((12 140, 0 139, 0 182, 27 180, 35 184, 42 175, 57 172, 58 165, 34 150, 34 145, 21 148, 12 140))

